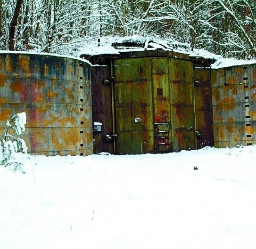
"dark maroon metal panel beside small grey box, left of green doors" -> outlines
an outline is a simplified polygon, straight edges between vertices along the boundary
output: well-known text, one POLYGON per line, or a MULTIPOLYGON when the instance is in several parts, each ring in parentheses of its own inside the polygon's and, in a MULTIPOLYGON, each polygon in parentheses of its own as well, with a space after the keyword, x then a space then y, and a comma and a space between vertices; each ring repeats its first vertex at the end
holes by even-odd
POLYGON ((106 142, 106 135, 113 135, 111 85, 103 80, 110 77, 109 66, 95 66, 91 70, 92 120, 102 123, 102 132, 94 132, 94 153, 114 153, 113 142, 106 142))

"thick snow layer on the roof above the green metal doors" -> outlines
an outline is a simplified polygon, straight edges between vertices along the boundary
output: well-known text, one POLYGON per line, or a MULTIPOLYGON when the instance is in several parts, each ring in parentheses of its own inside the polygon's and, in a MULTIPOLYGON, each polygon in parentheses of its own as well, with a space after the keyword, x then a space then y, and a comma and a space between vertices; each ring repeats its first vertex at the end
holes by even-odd
POLYGON ((256 60, 239 60, 236 58, 225 58, 221 55, 215 55, 205 49, 194 49, 191 51, 190 44, 176 42, 174 40, 161 40, 157 38, 142 37, 138 35, 129 37, 101 37, 99 42, 91 43, 88 46, 78 48, 78 56, 81 55, 118 55, 120 52, 142 51, 163 49, 165 51, 174 51, 189 56, 211 59, 215 63, 211 64, 212 69, 225 68, 237 65, 256 64, 256 60))

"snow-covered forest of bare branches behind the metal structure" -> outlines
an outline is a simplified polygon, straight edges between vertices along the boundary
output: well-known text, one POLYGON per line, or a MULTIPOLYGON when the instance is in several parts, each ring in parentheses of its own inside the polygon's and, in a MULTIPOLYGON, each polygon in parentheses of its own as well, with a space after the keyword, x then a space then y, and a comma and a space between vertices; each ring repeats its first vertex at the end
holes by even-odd
POLYGON ((0 50, 66 54, 104 36, 140 35, 256 58, 255 0, 0 0, 0 50))

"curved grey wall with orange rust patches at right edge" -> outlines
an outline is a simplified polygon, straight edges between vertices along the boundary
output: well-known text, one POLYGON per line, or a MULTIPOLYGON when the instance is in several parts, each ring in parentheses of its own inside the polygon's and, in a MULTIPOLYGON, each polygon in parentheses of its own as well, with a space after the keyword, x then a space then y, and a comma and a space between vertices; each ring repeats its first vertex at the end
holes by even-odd
POLYGON ((215 146, 255 144, 256 65, 214 70, 212 82, 215 146))

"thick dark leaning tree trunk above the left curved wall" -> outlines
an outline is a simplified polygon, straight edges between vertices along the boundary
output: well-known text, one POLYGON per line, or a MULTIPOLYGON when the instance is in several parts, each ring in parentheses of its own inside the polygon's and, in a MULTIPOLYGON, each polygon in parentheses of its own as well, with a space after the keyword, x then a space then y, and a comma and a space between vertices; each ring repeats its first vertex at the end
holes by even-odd
POLYGON ((15 31, 16 31, 16 26, 18 23, 18 18, 19 18, 19 13, 20 13, 20 9, 21 6, 23 4, 24 0, 17 0, 16 2, 16 6, 14 9, 14 14, 12 16, 12 19, 10 21, 10 26, 9 26, 9 44, 8 44, 8 48, 9 50, 14 51, 15 50, 15 31))

